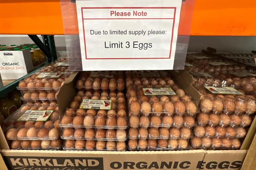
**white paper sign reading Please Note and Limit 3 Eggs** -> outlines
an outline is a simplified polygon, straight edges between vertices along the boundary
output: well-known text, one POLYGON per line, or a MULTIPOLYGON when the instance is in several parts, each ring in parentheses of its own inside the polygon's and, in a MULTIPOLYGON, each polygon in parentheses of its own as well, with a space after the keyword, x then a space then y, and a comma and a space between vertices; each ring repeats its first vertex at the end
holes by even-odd
POLYGON ((83 70, 172 69, 182 0, 76 0, 83 70))

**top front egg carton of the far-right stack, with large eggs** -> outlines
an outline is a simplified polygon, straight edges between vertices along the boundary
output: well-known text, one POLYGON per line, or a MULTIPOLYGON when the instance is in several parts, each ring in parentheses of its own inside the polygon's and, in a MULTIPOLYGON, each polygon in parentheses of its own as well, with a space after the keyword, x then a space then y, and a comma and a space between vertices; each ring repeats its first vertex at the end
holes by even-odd
POLYGON ((256 98, 251 95, 206 94, 200 100, 199 109, 203 113, 252 115, 256 112, 256 98))

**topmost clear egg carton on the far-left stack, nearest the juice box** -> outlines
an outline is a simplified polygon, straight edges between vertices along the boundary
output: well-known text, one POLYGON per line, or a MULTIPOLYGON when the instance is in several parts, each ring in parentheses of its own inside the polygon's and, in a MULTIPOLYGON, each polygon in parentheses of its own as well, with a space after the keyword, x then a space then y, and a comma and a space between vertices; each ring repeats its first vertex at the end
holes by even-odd
POLYGON ((65 79, 70 75, 70 72, 64 73, 56 73, 54 77, 56 78, 48 78, 48 75, 42 75, 42 77, 46 76, 47 78, 37 78, 37 76, 41 76, 41 74, 32 74, 25 79, 19 82, 17 87, 18 90, 21 91, 36 91, 36 90, 55 90, 58 91, 60 87, 64 84, 65 79), (59 75, 58 75, 59 74, 59 75))

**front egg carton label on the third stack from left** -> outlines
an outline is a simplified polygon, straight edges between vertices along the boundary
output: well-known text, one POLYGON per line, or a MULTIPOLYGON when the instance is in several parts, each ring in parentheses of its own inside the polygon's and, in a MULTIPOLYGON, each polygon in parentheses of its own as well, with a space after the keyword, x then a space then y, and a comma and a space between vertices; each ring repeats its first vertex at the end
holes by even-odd
POLYGON ((142 88, 145 96, 155 96, 155 95, 176 95, 176 93, 170 87, 162 88, 142 88))

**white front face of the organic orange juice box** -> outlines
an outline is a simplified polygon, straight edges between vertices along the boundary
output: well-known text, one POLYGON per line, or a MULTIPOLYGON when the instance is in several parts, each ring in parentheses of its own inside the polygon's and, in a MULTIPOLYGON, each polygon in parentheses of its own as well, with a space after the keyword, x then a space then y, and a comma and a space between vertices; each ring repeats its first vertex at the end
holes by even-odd
POLYGON ((0 51, 0 74, 3 80, 19 79, 28 74, 23 51, 0 51))

